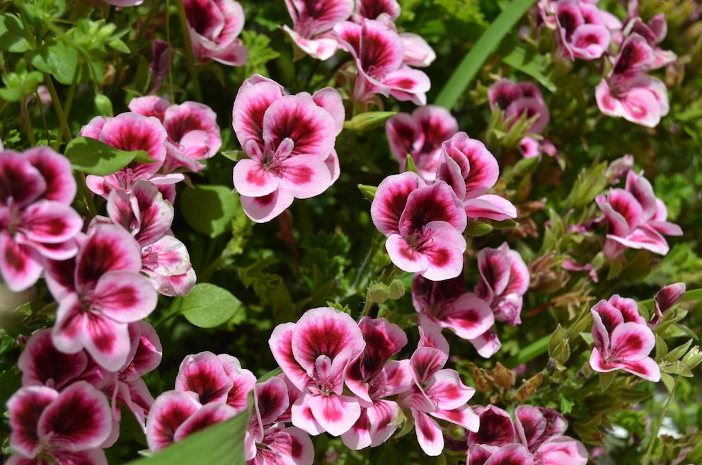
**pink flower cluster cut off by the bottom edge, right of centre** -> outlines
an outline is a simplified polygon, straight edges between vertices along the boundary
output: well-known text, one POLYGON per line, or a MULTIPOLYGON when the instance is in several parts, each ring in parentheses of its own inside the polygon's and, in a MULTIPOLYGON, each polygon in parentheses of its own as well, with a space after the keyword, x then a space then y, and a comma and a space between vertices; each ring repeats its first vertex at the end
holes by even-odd
POLYGON ((565 436, 568 422, 551 408, 518 406, 514 422, 496 406, 477 406, 481 428, 466 435, 468 465, 585 465, 587 449, 565 436))

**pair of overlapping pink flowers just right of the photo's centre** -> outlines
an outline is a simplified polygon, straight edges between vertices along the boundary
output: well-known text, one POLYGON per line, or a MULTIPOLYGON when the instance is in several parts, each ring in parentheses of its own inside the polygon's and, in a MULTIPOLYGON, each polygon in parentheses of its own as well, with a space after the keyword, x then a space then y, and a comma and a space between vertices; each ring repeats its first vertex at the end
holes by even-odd
POLYGON ((498 176, 493 154, 459 132, 442 144, 432 185, 413 172, 385 178, 376 190, 371 218, 388 237, 386 249, 393 263, 432 281, 458 276, 468 219, 517 217, 511 202, 485 194, 498 176))

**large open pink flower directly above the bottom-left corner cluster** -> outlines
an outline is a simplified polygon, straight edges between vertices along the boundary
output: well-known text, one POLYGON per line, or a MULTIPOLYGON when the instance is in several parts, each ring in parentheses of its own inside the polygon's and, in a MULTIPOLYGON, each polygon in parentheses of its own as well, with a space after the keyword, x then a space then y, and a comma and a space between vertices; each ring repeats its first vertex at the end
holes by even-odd
POLYGON ((50 261, 47 284, 59 302, 52 338, 66 353, 85 349, 117 372, 130 355, 129 323, 156 308, 157 294, 142 269, 139 243, 122 228, 98 224, 73 260, 50 261))

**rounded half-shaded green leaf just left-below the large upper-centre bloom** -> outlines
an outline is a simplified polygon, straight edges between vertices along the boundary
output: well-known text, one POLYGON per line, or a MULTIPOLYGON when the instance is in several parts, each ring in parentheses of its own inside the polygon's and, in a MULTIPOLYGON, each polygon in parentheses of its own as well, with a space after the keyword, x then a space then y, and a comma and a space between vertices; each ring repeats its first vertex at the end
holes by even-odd
POLYGON ((224 185, 196 185, 183 190, 179 198, 185 221, 212 239, 229 229, 236 214, 243 214, 239 196, 224 185))

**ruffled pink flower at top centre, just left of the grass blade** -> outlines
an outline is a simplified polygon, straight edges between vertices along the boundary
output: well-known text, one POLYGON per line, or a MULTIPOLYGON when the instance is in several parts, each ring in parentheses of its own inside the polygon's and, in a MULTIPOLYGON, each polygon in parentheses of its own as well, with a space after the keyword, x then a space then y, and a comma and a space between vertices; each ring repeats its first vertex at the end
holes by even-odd
POLYGON ((379 93, 417 105, 427 103, 430 79, 405 64, 403 40, 393 27, 372 19, 360 25, 343 21, 334 26, 334 33, 356 63, 355 101, 367 103, 379 93))

